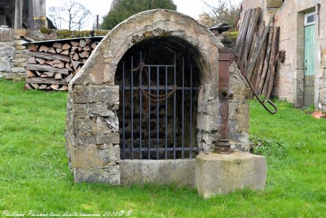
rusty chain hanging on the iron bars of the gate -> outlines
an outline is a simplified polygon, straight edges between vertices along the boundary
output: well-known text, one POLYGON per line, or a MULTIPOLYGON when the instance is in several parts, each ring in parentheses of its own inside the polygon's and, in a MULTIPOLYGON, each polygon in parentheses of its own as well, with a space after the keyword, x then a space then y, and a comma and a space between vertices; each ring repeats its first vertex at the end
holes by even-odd
MULTIPOLYGON (((145 69, 144 70, 145 74, 147 75, 147 78, 148 78, 148 72, 147 72, 147 69, 144 68, 144 65, 145 65, 145 63, 141 62, 141 63, 139 63, 139 65, 137 67, 135 67, 131 70, 131 74, 133 72, 139 70, 139 75, 138 75, 139 84, 141 82, 141 77, 142 77, 142 73, 143 73, 144 69, 145 69)), ((151 86, 155 86, 151 79, 149 79, 149 81, 150 81, 151 86)), ((153 102, 162 102, 162 101, 167 100, 178 88, 177 86, 174 86, 173 89, 171 91, 169 91, 168 93, 157 95, 157 94, 151 94, 148 91, 146 91, 145 89, 142 89, 142 87, 140 85, 138 87, 143 92, 145 98, 147 98, 148 100, 153 101, 153 102)), ((148 85, 148 88, 150 88, 150 85, 148 85)))

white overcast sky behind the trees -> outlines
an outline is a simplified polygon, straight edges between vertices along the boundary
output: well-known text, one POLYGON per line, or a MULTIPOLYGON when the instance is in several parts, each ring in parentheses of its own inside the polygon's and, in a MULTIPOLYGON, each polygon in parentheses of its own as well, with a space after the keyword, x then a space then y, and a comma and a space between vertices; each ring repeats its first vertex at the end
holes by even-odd
MULTIPOLYGON (((46 0, 46 8, 48 10, 48 8, 51 6, 63 5, 65 1, 68 0, 46 0)), ((75 1, 84 5, 92 13, 92 17, 85 25, 86 30, 92 29, 93 23, 96 20, 96 15, 98 14, 101 18, 103 15, 107 14, 111 5, 111 0, 75 0, 75 1)), ((209 4, 214 4, 214 2, 218 2, 218 1, 219 0, 205 0, 205 2, 209 4)), ((239 3, 240 1, 241 0, 231 0, 231 2, 234 3, 239 3)), ((209 11, 209 9, 205 6, 202 0, 173 0, 173 2, 177 5, 177 11, 192 16, 195 19, 198 19, 199 14, 201 14, 202 12, 209 11)))

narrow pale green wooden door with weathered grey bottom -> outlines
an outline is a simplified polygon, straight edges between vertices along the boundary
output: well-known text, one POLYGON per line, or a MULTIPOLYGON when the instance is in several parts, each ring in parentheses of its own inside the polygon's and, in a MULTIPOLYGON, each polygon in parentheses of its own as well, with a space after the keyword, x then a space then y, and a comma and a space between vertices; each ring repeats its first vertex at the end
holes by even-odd
POLYGON ((315 25, 305 27, 304 67, 304 101, 306 106, 310 106, 314 104, 315 91, 315 25))

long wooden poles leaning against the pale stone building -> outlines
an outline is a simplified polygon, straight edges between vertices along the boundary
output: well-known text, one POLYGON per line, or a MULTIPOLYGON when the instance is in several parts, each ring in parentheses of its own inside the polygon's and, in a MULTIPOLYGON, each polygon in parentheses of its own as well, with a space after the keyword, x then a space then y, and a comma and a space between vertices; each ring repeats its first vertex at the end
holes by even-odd
MULTIPOLYGON (((261 8, 254 8, 244 12, 234 49, 257 94, 270 99, 276 74, 280 27, 271 26, 274 14, 267 26, 264 21, 259 23, 260 11, 261 8)), ((250 96, 252 98, 253 93, 250 96)))

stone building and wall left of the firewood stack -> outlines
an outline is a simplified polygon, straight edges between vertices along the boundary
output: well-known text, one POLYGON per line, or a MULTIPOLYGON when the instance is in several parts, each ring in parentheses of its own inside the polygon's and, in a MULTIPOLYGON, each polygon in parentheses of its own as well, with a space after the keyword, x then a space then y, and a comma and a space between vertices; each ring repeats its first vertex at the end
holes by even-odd
POLYGON ((28 50, 20 37, 45 38, 47 28, 45 0, 0 1, 0 78, 22 80, 28 50))

